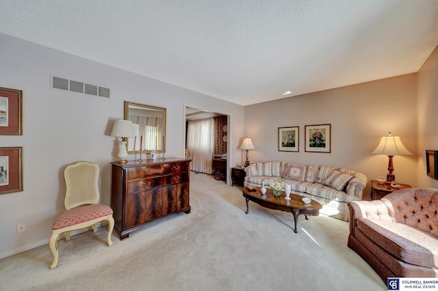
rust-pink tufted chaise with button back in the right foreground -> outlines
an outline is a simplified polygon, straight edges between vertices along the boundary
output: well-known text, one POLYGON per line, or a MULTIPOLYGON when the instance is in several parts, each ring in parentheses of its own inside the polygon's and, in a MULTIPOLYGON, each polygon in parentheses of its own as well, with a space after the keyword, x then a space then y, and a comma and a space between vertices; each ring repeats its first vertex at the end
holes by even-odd
POLYGON ((438 189, 403 189, 348 207, 348 247, 383 281, 438 277, 438 189))

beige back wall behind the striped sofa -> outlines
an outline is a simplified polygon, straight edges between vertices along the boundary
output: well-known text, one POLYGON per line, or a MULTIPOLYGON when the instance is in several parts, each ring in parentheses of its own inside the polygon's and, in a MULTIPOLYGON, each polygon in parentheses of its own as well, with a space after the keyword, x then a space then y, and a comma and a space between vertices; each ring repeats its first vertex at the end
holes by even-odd
MULTIPOLYGON (((293 88, 292 88, 293 89, 293 88)), ((371 154, 389 131, 413 156, 394 156, 401 183, 417 185, 416 74, 382 79, 245 107, 245 134, 256 150, 250 161, 289 161, 386 176, 388 157, 371 154), (331 153, 305 152, 305 125, 331 124, 331 153), (299 152, 279 152, 279 127, 299 126, 299 152)), ((364 199, 370 196, 370 182, 364 199)))

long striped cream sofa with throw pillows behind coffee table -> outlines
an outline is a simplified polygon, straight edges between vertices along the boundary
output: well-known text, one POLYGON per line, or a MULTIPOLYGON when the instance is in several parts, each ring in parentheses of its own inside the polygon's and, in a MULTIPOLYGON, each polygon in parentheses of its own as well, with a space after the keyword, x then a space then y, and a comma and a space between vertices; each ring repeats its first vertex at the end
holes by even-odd
POLYGON ((362 199, 367 177, 357 171, 322 165, 299 165, 283 161, 257 162, 245 168, 244 186, 291 184, 292 193, 320 204, 320 213, 348 221, 349 201, 362 199))

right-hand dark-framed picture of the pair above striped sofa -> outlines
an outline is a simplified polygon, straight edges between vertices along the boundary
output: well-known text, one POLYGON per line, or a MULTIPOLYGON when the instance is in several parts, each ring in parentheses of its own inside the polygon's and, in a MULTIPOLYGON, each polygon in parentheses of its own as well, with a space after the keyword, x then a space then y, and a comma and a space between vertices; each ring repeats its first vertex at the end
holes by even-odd
POLYGON ((331 152, 331 124, 305 126, 306 152, 331 152))

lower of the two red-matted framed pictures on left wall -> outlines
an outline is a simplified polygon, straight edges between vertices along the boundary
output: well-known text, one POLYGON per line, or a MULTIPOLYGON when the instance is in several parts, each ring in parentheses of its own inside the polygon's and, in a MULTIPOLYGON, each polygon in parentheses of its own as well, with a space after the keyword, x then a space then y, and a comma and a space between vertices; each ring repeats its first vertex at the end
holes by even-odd
POLYGON ((23 148, 0 148, 0 194, 23 191, 23 148))

